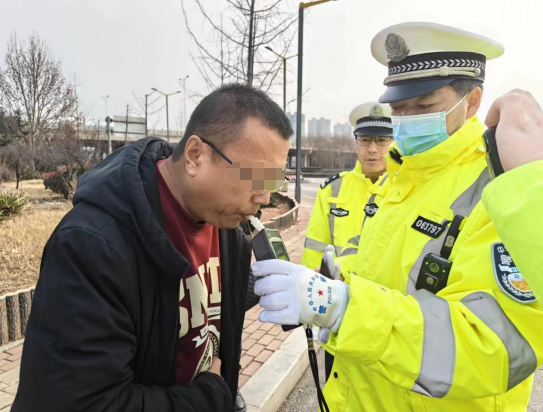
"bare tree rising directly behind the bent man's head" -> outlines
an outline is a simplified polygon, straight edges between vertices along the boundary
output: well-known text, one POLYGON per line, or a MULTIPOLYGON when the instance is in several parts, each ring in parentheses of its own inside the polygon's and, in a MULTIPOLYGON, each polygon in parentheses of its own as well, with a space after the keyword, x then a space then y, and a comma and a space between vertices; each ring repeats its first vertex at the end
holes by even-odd
POLYGON ((296 14, 285 10, 284 0, 227 2, 228 7, 217 17, 208 13, 202 0, 181 1, 185 24, 197 49, 195 54, 191 53, 192 59, 210 90, 238 82, 268 92, 281 84, 278 74, 282 61, 261 50, 269 45, 280 54, 289 52, 296 34, 296 14), (199 14, 203 19, 204 30, 208 30, 205 39, 197 36, 189 24, 186 2, 195 5, 192 15, 199 14))

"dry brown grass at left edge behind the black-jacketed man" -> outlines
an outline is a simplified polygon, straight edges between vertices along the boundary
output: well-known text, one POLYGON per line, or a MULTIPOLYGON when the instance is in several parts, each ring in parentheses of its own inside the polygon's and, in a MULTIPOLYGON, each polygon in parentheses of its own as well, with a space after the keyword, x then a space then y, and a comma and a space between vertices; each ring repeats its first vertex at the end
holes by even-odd
MULTIPOLYGON (((1 187, 14 189, 15 183, 3 183, 1 187)), ((43 247, 72 208, 70 202, 46 190, 42 180, 23 181, 20 190, 32 206, 0 223, 0 296, 36 284, 43 247)))

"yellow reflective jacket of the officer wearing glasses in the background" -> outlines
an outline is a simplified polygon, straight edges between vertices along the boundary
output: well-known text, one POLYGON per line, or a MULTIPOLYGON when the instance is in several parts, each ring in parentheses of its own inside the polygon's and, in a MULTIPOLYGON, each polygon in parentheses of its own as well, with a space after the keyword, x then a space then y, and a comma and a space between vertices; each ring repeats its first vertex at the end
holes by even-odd
POLYGON ((341 172, 322 183, 307 227, 302 265, 319 268, 324 248, 333 245, 342 276, 350 277, 366 203, 379 205, 386 180, 382 176, 372 183, 362 172, 360 162, 356 162, 353 170, 341 172))

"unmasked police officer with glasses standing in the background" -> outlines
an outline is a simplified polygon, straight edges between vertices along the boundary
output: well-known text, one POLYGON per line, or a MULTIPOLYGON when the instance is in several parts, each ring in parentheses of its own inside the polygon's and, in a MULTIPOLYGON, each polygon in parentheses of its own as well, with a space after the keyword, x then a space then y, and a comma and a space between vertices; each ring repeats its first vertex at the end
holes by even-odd
MULTIPOLYGON (((380 191, 384 190, 386 180, 378 180, 386 170, 384 155, 392 141, 388 105, 361 104, 353 109, 349 120, 358 145, 358 162, 353 170, 341 172, 322 183, 307 227, 302 255, 302 265, 315 269, 320 267, 327 245, 333 246, 331 259, 336 258, 338 270, 347 279, 358 250, 362 222, 365 217, 375 214, 381 200, 380 191), (371 206, 365 210, 367 196, 371 206), (341 259, 337 259, 340 255, 341 259)), ((324 347, 328 379, 334 359, 333 348, 324 347)))

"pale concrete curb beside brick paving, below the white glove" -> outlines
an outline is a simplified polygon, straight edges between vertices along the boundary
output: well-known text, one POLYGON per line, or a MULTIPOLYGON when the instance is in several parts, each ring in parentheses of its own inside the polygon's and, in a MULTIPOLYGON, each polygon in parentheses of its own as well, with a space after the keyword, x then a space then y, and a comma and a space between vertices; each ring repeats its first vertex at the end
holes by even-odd
MULTIPOLYGON (((315 345, 315 350, 319 349, 315 345)), ((241 388, 247 412, 277 411, 308 366, 307 338, 300 327, 241 388)))

